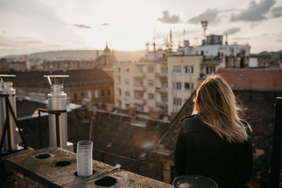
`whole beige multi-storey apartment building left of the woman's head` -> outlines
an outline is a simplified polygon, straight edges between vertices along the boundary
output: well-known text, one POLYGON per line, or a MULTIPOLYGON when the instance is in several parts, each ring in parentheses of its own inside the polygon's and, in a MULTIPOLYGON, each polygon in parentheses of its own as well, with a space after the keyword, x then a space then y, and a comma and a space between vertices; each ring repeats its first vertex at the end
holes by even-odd
POLYGON ((197 87, 199 78, 215 73, 220 63, 204 60, 202 55, 116 63, 115 106, 168 115, 177 113, 197 87))

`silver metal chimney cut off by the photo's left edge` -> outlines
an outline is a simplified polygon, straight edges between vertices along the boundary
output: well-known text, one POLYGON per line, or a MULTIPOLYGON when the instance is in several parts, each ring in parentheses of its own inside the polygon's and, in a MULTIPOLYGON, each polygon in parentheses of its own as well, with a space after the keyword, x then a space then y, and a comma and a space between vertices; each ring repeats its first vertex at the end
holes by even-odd
MULTIPOLYGON (((4 82, 4 77, 16 77, 16 75, 0 75, 0 94, 8 94, 8 100, 11 103, 11 107, 13 108, 13 112, 16 114, 16 89, 13 89, 13 83, 8 81, 4 82)), ((4 97, 0 98, 0 137, 4 130, 4 125, 6 123, 6 101, 4 97)), ((16 123, 13 120, 13 116, 9 113, 8 116, 9 125, 8 129, 10 130, 10 141, 11 141, 11 149, 18 149, 18 139, 16 132, 16 123)), ((5 141, 4 141, 4 150, 8 151, 8 132, 6 132, 5 141)))

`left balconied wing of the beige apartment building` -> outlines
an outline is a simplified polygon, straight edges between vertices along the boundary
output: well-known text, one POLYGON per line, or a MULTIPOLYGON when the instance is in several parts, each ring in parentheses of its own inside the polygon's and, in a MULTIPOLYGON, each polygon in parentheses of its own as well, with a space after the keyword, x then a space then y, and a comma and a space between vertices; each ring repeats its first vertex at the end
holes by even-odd
POLYGON ((154 63, 118 63, 114 66, 115 106, 149 112, 156 108, 154 63))

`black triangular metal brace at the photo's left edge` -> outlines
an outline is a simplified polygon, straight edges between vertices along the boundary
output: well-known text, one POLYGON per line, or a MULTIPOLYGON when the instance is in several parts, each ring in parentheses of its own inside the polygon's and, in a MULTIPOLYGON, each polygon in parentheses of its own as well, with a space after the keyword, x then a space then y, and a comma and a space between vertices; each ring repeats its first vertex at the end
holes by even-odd
POLYGON ((11 153, 15 153, 15 152, 18 152, 18 151, 25 150, 28 147, 27 147, 27 144, 25 142, 25 138, 23 137, 23 133, 20 130, 20 127, 18 126, 18 120, 16 118, 16 115, 13 112, 13 108, 11 106, 9 99, 8 99, 9 95, 8 94, 0 94, 0 97, 5 98, 5 107, 6 107, 6 121, 5 121, 4 129, 3 129, 3 132, 2 132, 2 135, 1 135, 1 142, 0 142, 0 156, 5 156, 5 155, 11 154, 11 153), (11 146, 11 134, 12 134, 12 132, 9 128, 9 124, 10 124, 9 115, 10 115, 10 113, 13 117, 13 120, 16 123, 16 127, 18 127, 18 132, 20 134, 20 138, 23 141, 23 149, 12 150, 12 146, 11 146), (6 134, 6 132, 7 132, 7 134, 6 134), (6 135, 8 137, 8 153, 2 154, 2 148, 4 147, 4 141, 5 141, 6 135))

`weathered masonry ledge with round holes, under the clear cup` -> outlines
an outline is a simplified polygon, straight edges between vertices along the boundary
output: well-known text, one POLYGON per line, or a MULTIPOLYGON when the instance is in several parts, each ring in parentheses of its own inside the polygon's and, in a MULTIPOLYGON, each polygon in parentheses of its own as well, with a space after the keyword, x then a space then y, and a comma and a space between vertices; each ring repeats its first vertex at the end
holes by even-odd
POLYGON ((99 161, 93 160, 92 165, 92 176, 78 177, 76 153, 59 148, 39 149, 6 159, 16 184, 22 187, 173 187, 99 161))

